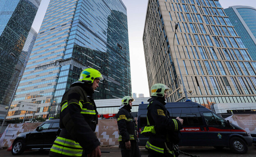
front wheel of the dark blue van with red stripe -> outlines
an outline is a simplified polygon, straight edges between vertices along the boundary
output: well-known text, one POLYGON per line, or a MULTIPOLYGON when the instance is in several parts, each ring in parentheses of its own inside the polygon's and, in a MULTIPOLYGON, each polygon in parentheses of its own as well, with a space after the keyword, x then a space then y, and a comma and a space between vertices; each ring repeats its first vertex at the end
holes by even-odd
POLYGON ((239 137, 232 137, 229 140, 230 149, 236 154, 245 154, 248 150, 247 144, 239 137))

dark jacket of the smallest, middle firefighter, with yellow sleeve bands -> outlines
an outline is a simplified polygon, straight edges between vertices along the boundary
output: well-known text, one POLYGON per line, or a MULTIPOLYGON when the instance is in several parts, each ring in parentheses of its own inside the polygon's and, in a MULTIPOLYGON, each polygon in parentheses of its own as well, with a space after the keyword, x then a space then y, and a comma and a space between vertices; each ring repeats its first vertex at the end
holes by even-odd
POLYGON ((128 105, 124 105, 117 113, 118 141, 127 142, 137 140, 137 126, 129 107, 128 105))

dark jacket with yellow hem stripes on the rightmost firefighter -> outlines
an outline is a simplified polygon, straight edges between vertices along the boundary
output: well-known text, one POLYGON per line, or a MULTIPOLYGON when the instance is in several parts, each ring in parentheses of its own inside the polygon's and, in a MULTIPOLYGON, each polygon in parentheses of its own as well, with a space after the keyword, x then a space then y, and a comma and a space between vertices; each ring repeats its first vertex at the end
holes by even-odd
MULTIPOLYGON (((173 137, 174 132, 182 129, 182 124, 178 119, 170 118, 169 111, 165 108, 164 98, 152 96, 148 101, 148 125, 154 126, 155 134, 150 135, 146 148, 164 153, 166 147, 172 149, 171 137, 173 137)), ((169 153, 173 154, 172 151, 169 153)))

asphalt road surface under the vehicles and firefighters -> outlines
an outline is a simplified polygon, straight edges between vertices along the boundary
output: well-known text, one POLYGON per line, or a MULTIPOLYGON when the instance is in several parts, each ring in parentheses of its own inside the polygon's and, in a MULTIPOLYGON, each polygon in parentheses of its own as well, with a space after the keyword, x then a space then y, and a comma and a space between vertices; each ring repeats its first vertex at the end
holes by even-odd
MULTIPOLYGON (((142 152, 142 157, 147 157, 148 153, 144 147, 140 147, 142 152)), ((180 147, 180 150, 191 155, 198 155, 199 157, 256 157, 256 147, 251 146, 248 149, 247 154, 234 154, 229 148, 223 148, 222 150, 217 150, 213 147, 180 147)), ((118 146, 113 147, 101 147, 101 151, 109 151, 109 153, 102 153, 101 157, 121 157, 121 150, 118 146)), ((25 151, 22 155, 18 157, 48 157, 48 150, 29 150, 25 151)), ((7 149, 0 150, 0 157, 14 157, 11 152, 7 149)), ((179 157, 188 157, 183 154, 179 157)))

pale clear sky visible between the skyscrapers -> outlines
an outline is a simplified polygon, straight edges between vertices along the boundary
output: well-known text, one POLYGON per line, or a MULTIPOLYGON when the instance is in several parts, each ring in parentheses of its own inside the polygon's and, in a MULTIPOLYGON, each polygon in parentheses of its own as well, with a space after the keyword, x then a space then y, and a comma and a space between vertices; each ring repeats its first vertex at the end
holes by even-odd
MULTIPOLYGON (((142 42, 148 0, 122 1, 127 8, 128 16, 132 92, 137 93, 137 95, 143 93, 144 97, 149 97, 149 85, 142 42)), ((34 23, 32 24, 32 27, 37 32, 39 32, 49 2, 50 0, 41 1, 34 23)), ((245 5, 256 8, 256 0, 219 0, 219 3, 224 9, 234 5, 245 5)))

